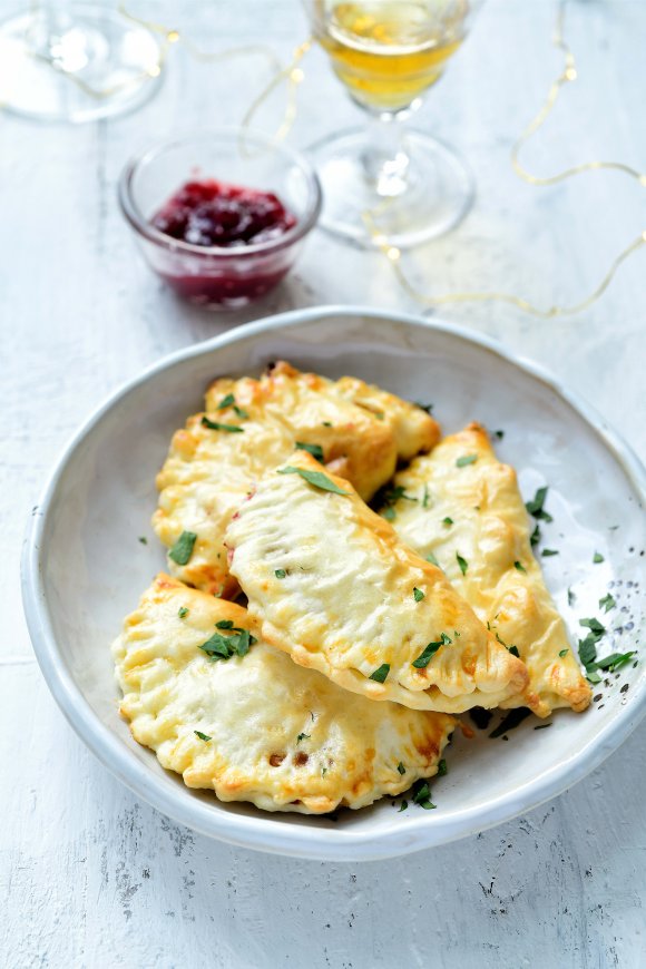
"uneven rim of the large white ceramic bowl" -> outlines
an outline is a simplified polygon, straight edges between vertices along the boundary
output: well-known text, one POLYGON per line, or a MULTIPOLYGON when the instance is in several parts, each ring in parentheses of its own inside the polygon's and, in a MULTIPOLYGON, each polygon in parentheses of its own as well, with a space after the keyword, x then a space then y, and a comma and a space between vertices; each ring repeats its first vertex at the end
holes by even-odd
POLYGON ((23 544, 21 588, 33 650, 57 704, 72 728, 99 761, 138 797, 203 835, 242 848, 322 861, 373 861, 410 854, 484 831, 562 793, 597 767, 635 730, 646 715, 646 689, 642 689, 633 703, 621 707, 616 717, 601 727, 596 737, 576 756, 526 782, 512 795, 498 795, 483 804, 456 812, 450 819, 430 819, 431 823, 429 823, 429 816, 420 812, 421 816, 410 819, 405 826, 397 825, 393 819, 382 826, 379 836, 375 836, 372 831, 344 831, 330 828, 313 831, 312 826, 276 824, 271 815, 265 816, 260 812, 257 815, 214 812, 208 803, 192 799, 189 792, 180 787, 174 790, 157 779, 144 762, 131 756, 124 743, 91 709, 74 682, 56 642, 41 568, 41 540, 59 480, 69 459, 116 403, 151 378, 192 358, 212 353, 241 339, 275 330, 288 331, 306 322, 313 323, 337 316, 354 319, 369 316, 391 323, 404 323, 411 327, 449 333, 512 363, 557 393, 590 425, 623 466, 632 486, 646 502, 646 468, 630 446, 608 425, 594 407, 576 392, 564 388, 541 365, 508 351, 492 337, 439 320, 427 320, 413 314, 376 310, 371 306, 315 306, 256 320, 211 340, 175 351, 147 366, 137 376, 114 391, 86 419, 65 447, 47 480, 38 505, 32 509, 23 544))

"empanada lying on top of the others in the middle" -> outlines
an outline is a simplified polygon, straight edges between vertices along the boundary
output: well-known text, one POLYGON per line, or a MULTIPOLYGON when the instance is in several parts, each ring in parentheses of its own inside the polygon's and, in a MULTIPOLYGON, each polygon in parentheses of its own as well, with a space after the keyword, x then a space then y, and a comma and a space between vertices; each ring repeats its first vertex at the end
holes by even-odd
POLYGON ((346 689, 459 713, 526 686, 441 569, 307 453, 265 474, 225 541, 264 638, 346 689))

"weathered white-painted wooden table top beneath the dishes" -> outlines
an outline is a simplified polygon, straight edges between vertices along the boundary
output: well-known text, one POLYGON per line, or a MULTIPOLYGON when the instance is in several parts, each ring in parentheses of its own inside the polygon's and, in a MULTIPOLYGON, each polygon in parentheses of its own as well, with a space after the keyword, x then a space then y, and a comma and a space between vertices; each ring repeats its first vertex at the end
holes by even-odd
MULTIPOLYGON (((161 4, 155 12, 164 16, 161 4)), ((408 257, 429 290, 576 302, 646 227, 644 189, 620 175, 537 189, 511 174, 510 143, 559 66, 554 16, 551 0, 490 0, 418 116, 462 149, 479 184, 463 225, 408 257)), ((295 0, 176 3, 166 19, 212 49, 270 41, 281 56, 306 31, 295 0)), ((580 81, 527 164, 548 173, 606 156, 646 168, 644 4, 576 2, 568 32, 580 81)), ((319 52, 305 68, 291 136, 302 146, 359 120, 319 52)), ((239 314, 182 305, 136 256, 115 197, 126 158, 179 129, 239 121, 265 78, 261 60, 223 70, 178 47, 158 97, 131 117, 71 129, 0 116, 0 963, 644 966, 646 724, 528 816, 353 867, 234 849, 169 822, 95 762, 45 686, 21 614, 20 546, 46 472, 87 412, 151 361, 257 315, 329 302, 419 309, 382 257, 322 233, 264 305, 239 314)), ((270 105, 265 127, 276 112, 270 105)), ((500 305, 443 316, 551 368, 645 458, 645 261, 635 256, 599 303, 567 322, 500 305)))

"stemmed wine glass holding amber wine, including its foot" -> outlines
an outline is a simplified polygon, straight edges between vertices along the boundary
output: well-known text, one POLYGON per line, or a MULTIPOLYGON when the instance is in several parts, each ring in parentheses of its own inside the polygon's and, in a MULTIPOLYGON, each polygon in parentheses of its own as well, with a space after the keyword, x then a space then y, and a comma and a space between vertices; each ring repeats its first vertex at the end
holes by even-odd
POLYGON ((407 247, 453 228, 473 200, 457 153, 403 121, 459 49, 480 0, 304 0, 313 33, 363 128, 311 148, 322 224, 361 245, 407 247))

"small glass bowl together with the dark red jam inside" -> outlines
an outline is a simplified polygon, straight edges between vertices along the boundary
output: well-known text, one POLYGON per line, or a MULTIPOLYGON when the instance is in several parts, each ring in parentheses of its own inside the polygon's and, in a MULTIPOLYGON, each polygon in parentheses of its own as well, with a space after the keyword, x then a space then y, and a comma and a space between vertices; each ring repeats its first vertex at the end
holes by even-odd
POLYGON ((134 158, 119 200, 158 276, 192 303, 237 309, 288 272, 322 196, 303 156, 258 133, 218 128, 134 158))

